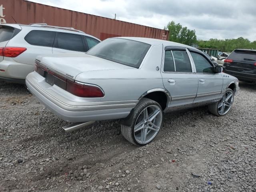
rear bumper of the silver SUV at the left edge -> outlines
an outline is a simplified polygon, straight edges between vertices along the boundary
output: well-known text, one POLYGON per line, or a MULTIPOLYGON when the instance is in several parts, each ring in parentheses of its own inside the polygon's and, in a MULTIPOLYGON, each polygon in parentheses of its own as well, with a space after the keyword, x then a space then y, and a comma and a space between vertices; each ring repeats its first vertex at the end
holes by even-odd
POLYGON ((0 72, 0 78, 2 80, 25 83, 26 76, 34 70, 34 65, 18 63, 12 58, 10 60, 2 60, 0 62, 0 69, 4 72, 0 72))

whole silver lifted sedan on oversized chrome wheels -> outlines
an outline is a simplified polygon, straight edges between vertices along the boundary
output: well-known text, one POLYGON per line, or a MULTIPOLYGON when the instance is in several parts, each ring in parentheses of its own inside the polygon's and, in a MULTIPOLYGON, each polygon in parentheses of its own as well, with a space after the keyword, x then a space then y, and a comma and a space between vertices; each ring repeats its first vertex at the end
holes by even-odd
POLYGON ((122 119, 122 134, 135 145, 155 138, 163 112, 208 105, 223 116, 239 90, 238 79, 198 49, 133 37, 106 39, 86 54, 38 56, 26 85, 54 114, 77 122, 64 130, 122 119))

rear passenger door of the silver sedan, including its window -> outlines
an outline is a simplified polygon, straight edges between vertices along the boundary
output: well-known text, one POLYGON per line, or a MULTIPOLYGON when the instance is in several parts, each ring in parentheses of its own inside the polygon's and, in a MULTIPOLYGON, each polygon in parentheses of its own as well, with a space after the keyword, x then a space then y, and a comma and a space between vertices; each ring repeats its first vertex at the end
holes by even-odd
POLYGON ((171 94, 169 107, 192 104, 196 98, 198 77, 188 51, 183 47, 166 47, 161 69, 163 84, 171 94))

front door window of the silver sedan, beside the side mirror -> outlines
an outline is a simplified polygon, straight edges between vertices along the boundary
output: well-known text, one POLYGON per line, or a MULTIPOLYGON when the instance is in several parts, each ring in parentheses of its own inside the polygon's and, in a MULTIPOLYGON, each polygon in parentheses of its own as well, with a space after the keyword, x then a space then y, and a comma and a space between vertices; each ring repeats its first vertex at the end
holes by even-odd
POLYGON ((198 73, 214 73, 213 66, 204 58, 204 56, 190 52, 196 66, 196 72, 198 73))

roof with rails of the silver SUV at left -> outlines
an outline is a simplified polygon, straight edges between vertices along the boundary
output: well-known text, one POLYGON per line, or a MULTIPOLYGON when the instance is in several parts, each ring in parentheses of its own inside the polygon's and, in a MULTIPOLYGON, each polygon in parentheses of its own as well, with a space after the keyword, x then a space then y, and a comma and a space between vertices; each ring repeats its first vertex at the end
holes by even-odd
POLYGON ((4 25, 4 26, 11 26, 14 28, 18 28, 18 29, 22 29, 23 27, 31 27, 31 28, 35 28, 36 30, 49 30, 49 31, 55 31, 55 32, 65 32, 65 33, 72 33, 72 34, 79 34, 79 35, 85 35, 91 38, 94 38, 96 40, 101 41, 100 39, 86 34, 83 31, 80 30, 76 30, 74 28, 69 28, 69 27, 60 27, 60 26, 50 26, 47 24, 30 24, 30 25, 25 25, 25 24, 0 24, 0 25, 4 25))

